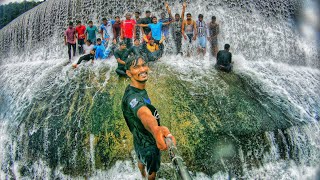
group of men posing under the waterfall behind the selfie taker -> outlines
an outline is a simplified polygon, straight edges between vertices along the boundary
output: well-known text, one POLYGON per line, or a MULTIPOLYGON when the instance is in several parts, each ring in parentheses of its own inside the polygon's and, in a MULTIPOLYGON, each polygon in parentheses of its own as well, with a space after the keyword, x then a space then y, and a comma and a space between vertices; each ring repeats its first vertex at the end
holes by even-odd
POLYGON ((191 13, 186 13, 187 4, 183 3, 181 15, 176 13, 172 16, 168 3, 165 3, 165 12, 161 13, 160 19, 151 15, 151 11, 145 12, 145 17, 140 18, 140 11, 134 13, 132 18, 130 13, 125 14, 125 19, 120 16, 108 20, 102 18, 102 24, 95 26, 93 21, 89 21, 85 26, 80 20, 69 22, 69 27, 65 31, 65 45, 68 46, 69 62, 72 55, 76 55, 76 49, 80 55, 76 64, 77 68, 82 61, 92 61, 95 59, 108 59, 114 56, 118 62, 116 72, 119 76, 127 76, 125 72, 126 59, 130 56, 142 56, 145 61, 159 60, 164 51, 164 43, 172 41, 175 46, 175 54, 182 55, 183 38, 187 43, 186 56, 194 50, 191 44, 197 44, 197 53, 205 54, 207 41, 210 44, 210 53, 217 58, 216 68, 230 72, 232 69, 232 55, 229 52, 230 45, 225 44, 224 50, 218 52, 219 24, 216 17, 212 16, 211 21, 206 23, 203 14, 198 15, 198 20, 193 20, 191 13), (98 33, 101 38, 97 38, 98 33), (172 36, 170 36, 170 33, 172 36), (170 37, 169 37, 170 36, 170 37))

